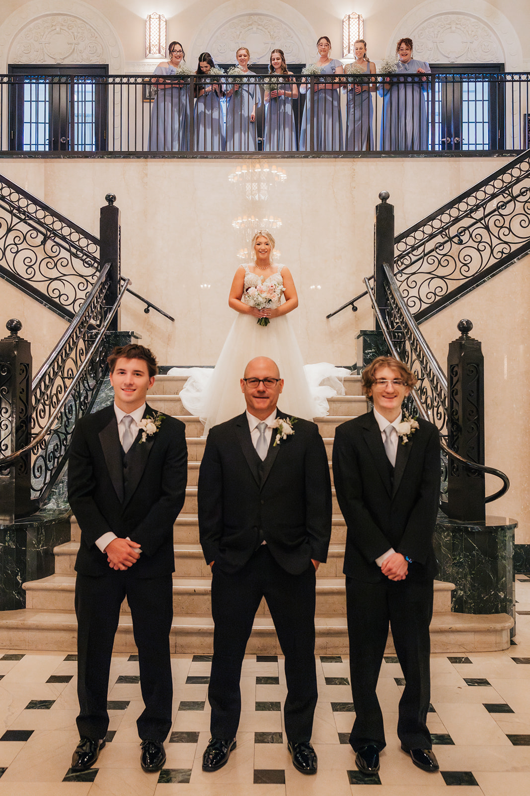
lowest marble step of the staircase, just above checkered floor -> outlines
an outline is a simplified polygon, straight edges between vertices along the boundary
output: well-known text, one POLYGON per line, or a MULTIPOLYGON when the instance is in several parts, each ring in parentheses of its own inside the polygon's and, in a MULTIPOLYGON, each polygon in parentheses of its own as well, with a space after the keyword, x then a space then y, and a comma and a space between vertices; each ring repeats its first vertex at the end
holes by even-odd
MULTIPOLYGON (((467 615, 436 613, 431 622, 431 652, 465 655, 472 652, 507 650, 513 619, 506 614, 467 615)), ((0 646, 12 650, 56 650, 75 653, 77 623, 73 611, 2 611, 0 646)), ((172 654, 211 654, 213 621, 211 616, 181 615, 173 618, 170 634, 172 654)), ((114 652, 136 652, 130 615, 120 617, 114 652)), ((254 619, 246 648, 248 654, 280 655, 272 619, 254 619)), ((385 649, 393 654, 392 638, 385 649)), ((315 654, 348 654, 345 616, 315 618, 315 654)))

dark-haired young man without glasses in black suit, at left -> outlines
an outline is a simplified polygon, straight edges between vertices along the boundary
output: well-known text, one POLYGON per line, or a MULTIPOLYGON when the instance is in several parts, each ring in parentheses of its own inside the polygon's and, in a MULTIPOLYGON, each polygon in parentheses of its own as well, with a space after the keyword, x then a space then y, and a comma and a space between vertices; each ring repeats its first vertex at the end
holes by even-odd
POLYGON ((173 522, 184 504, 188 452, 184 423, 146 404, 157 373, 143 345, 108 358, 114 405, 75 427, 68 499, 81 529, 75 561, 79 744, 72 769, 98 759, 109 724, 110 657, 123 599, 138 649, 145 710, 137 720, 141 767, 164 765, 172 723, 173 522))

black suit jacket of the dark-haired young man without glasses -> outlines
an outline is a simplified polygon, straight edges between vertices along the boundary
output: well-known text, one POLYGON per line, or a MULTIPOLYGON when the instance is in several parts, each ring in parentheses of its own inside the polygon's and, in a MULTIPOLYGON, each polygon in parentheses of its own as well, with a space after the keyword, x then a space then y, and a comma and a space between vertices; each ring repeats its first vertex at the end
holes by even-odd
MULTIPOLYGON (((147 414, 156 412, 147 406, 147 414)), ((68 500, 81 529, 75 569, 82 575, 111 571, 95 544, 108 531, 141 544, 131 574, 150 578, 174 571, 173 522, 184 505, 188 475, 184 423, 165 416, 155 434, 140 440, 141 431, 124 471, 113 405, 83 417, 75 426, 68 458, 68 500)))

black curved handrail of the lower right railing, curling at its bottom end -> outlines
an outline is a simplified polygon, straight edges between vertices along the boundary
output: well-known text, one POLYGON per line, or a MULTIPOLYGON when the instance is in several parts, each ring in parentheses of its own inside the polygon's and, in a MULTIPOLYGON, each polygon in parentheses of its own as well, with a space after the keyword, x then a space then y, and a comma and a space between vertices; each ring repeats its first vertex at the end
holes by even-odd
MULTIPOLYGON (((427 344, 427 341, 425 340, 423 334, 421 334, 420 329, 418 328, 414 318, 412 318, 412 315, 408 311, 408 307, 406 306, 406 304, 404 304, 403 299, 400 296, 400 292, 399 292, 399 290, 397 288, 396 281, 393 278, 392 271, 390 271, 389 266, 386 265, 386 264, 384 264, 383 267, 385 269, 385 276, 387 278, 387 282, 389 284, 390 290, 393 292, 394 298, 396 299, 397 303, 399 304, 400 310, 403 313, 404 318, 410 324, 411 332, 416 337, 416 340, 417 340, 418 344, 420 345, 422 353, 424 353, 424 356, 427 358, 427 361, 429 362, 431 370, 433 371, 433 373, 436 374, 436 378, 439 380, 439 384, 443 388, 444 398, 447 401, 447 379, 446 379, 445 375, 443 374, 443 372, 442 372, 442 370, 441 370, 441 368, 439 366, 439 363, 436 360, 435 355, 432 353, 429 345, 427 344)), ((374 311, 374 313, 376 315, 376 318, 377 318, 377 321, 379 322, 379 325, 381 326, 381 330, 383 331, 383 335, 385 337, 386 344, 389 346, 389 349, 390 349, 393 357, 396 357, 396 359, 400 360, 400 358, 401 358, 400 354, 398 353, 398 351, 396 349, 396 346, 393 343, 393 339, 392 339, 392 337, 391 337, 391 335, 389 333, 389 329, 388 329, 387 324, 385 322, 385 318, 383 318, 383 316, 381 314, 381 311, 379 310, 379 307, 377 306, 377 302, 375 300, 375 296, 373 295, 372 288, 369 285, 369 279, 366 278, 364 280, 364 283, 366 285, 366 291, 367 291, 367 293, 369 295, 370 301, 372 302, 373 311, 374 311)), ((429 416, 427 414, 427 411, 424 408, 424 405, 422 404, 422 402, 420 400, 420 396, 418 395, 418 392, 417 392, 416 388, 412 389, 412 400, 414 401, 414 404, 416 404, 416 408, 418 409, 418 412, 420 413, 420 416, 424 420, 430 420, 429 416)), ((443 407, 443 409, 444 409, 444 412, 446 412, 446 415, 447 415, 447 409, 445 407, 443 407)), ((472 470, 480 470, 483 473, 487 473, 489 475, 496 475, 497 478, 501 478, 501 481, 503 482, 503 486, 501 486, 501 489, 497 490, 497 492, 495 492, 494 494, 489 495, 489 497, 486 497, 486 503, 490 503, 490 502, 492 502, 494 500, 497 500, 497 498, 502 497, 502 495, 504 495, 509 490, 509 478, 508 478, 508 476, 505 473, 503 473, 501 470, 497 470, 495 467, 489 467, 489 466, 486 466, 484 464, 478 464, 477 462, 471 462, 469 459, 466 459, 466 458, 462 457, 461 455, 459 455, 456 451, 453 451, 447 445, 447 443, 445 442, 445 440, 443 439, 443 436, 441 434, 440 434, 440 447, 442 447, 443 451, 445 451, 448 456, 451 456, 452 458, 458 459, 458 462, 462 462, 462 464, 464 464, 465 466, 469 467, 470 469, 472 469, 472 470)))

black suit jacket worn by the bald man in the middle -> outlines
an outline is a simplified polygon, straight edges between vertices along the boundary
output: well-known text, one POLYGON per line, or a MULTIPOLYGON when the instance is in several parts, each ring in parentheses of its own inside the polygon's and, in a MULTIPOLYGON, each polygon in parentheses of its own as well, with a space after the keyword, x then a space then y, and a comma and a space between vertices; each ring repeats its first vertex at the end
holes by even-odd
MULTIPOLYGON (((280 417, 286 417, 281 412, 280 417)), ((199 471, 199 535, 207 563, 233 573, 260 544, 260 530, 280 567, 304 572, 325 561, 331 537, 331 482, 315 423, 296 419, 294 434, 265 462, 246 413, 211 429, 199 471)))

